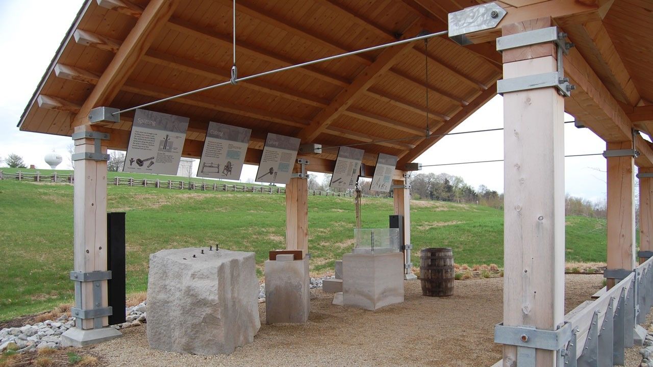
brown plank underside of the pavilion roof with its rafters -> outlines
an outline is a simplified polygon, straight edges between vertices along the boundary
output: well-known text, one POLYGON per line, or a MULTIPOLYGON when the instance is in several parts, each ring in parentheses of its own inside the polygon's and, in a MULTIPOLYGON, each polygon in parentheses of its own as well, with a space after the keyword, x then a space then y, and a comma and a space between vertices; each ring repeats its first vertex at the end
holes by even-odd
MULTIPOLYGON (((447 13, 479 2, 237 0, 238 75, 413 37, 422 30, 443 31, 447 13)), ((501 5, 513 14, 513 9, 558 3, 511 0, 501 5)), ((591 0, 567 3, 586 12, 600 10, 600 4, 591 0)), ((571 40, 579 43, 582 61, 605 80, 611 97, 628 116, 637 112, 628 108, 653 101, 653 71, 646 67, 653 60, 650 8, 648 0, 615 0, 603 21, 587 16, 588 22, 577 21, 577 16, 560 18, 565 31, 570 29, 571 40), (614 54, 603 57, 606 50, 614 54), (620 60, 616 66, 614 59, 620 60), (619 65, 624 65, 623 70, 619 65)), ((93 106, 130 108, 229 80, 231 17, 231 0, 88 0, 25 108, 20 129, 71 135, 74 127, 88 123, 85 117, 93 106)), ((424 135, 425 57, 431 133, 451 131, 496 94, 501 55, 492 37, 481 41, 463 47, 447 37, 435 37, 428 41, 428 52, 424 42, 411 42, 147 109, 191 119, 183 152, 189 157, 199 157, 208 121, 217 121, 253 129, 252 149, 261 149, 268 132, 324 146, 371 142, 360 147, 368 153, 368 164, 374 163, 375 153, 383 152, 398 155, 401 168, 439 140, 375 142, 424 135)), ((570 105, 572 113, 591 114, 586 101, 570 105)), ((112 126, 118 130, 112 132, 110 148, 126 148, 131 118, 133 112, 121 114, 121 122, 112 126)), ((646 127, 648 120, 641 118, 639 126, 646 127)), ((327 159, 336 153, 325 152, 321 156, 327 159)))

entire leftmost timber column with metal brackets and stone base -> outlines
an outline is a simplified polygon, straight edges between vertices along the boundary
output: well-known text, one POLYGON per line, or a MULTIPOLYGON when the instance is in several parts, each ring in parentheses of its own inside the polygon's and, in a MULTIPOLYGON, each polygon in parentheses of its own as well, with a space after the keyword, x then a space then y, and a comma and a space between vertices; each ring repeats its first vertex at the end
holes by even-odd
MULTIPOLYGON (((106 263, 106 161, 104 140, 109 135, 78 127, 74 140, 73 234, 75 304, 71 309, 75 327, 62 335, 64 346, 80 347, 118 338, 108 327, 106 263)), ((116 310, 123 311, 123 310, 116 310)))

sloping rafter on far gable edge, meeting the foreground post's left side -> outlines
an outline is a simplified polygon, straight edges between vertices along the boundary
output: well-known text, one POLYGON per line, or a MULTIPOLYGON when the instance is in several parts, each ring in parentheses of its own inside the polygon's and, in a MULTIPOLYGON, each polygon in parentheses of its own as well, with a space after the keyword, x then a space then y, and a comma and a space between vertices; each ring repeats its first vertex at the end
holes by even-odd
POLYGON ((467 106, 464 106, 461 108, 454 116, 451 117, 451 119, 447 122, 445 122, 442 125, 438 125, 436 129, 433 129, 431 132, 434 136, 431 138, 425 138, 423 139, 413 150, 410 152, 406 152, 402 155, 400 155, 399 162, 397 163, 397 167, 404 167, 406 163, 410 163, 417 159, 422 153, 426 152, 428 148, 431 148, 433 144, 436 144, 441 138, 443 138, 444 134, 448 134, 451 130, 454 129, 454 127, 458 126, 459 123, 464 121, 466 118, 470 117, 471 114, 476 112, 483 104, 487 103, 490 101, 490 99, 494 98, 496 95, 496 83, 493 83, 491 86, 488 87, 488 89, 485 89, 482 93, 480 93, 473 101, 471 101, 470 104, 467 106))

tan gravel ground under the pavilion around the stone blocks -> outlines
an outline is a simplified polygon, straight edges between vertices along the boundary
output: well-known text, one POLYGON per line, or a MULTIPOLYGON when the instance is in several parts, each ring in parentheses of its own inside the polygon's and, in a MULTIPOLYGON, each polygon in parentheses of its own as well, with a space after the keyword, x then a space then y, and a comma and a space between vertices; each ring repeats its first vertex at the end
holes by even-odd
MULTIPOLYGON (((565 276, 565 312, 601 288, 601 275, 565 276)), ((89 350, 108 366, 491 366, 501 359, 494 325, 502 319, 503 279, 456 281, 454 296, 421 295, 406 282, 406 302, 377 311, 332 305, 333 295, 311 291, 303 325, 264 325, 254 342, 231 355, 180 355, 151 350, 146 327, 89 350)), ((189 330, 190 332, 190 330, 189 330)), ((635 353, 639 356, 635 349, 635 353)), ((633 357, 628 353, 629 362, 633 357)), ((639 364, 627 364, 637 366, 639 364)))

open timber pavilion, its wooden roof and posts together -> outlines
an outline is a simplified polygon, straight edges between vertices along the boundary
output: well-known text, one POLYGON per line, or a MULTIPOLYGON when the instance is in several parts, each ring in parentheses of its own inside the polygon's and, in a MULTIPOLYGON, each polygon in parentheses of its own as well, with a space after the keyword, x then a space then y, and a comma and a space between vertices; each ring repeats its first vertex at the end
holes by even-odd
MULTIPOLYGON (((237 0, 238 75, 409 39, 424 31, 451 31, 450 14, 483 3, 237 0)), ((505 16, 493 27, 467 33, 471 44, 466 46, 446 36, 398 44, 210 89, 148 110, 190 119, 185 157, 200 157, 209 121, 252 129, 246 163, 253 165, 261 159, 267 133, 296 136, 302 144, 324 147, 366 143, 360 148, 366 152, 363 163, 370 175, 378 153, 396 155, 395 211, 404 215, 410 243, 405 175, 414 166, 407 164, 494 97, 498 80, 559 71, 557 48, 562 46, 555 42, 522 41, 497 52, 498 37, 557 26, 575 44, 562 57, 564 76, 575 86, 569 88, 570 97, 549 86, 505 89, 503 99, 504 325, 556 330, 565 321, 563 112, 607 142, 609 288, 625 283, 624 272, 635 269, 635 165, 641 261, 650 257, 646 251, 653 251, 653 148, 641 136, 653 133, 653 1, 496 4, 505 16)), ((228 81, 232 47, 229 0, 87 0, 18 127, 65 136, 108 133, 110 138, 101 140, 102 149, 125 150, 133 112, 119 114, 117 123, 91 123, 91 109, 124 110, 228 81)), ((94 152, 93 143, 92 138, 78 138, 76 152, 94 152)), ((308 170, 332 172, 336 153, 323 150, 298 157, 310 159, 308 170)), ((80 161, 75 175, 75 270, 106 270, 106 162, 80 161)), ((292 178, 286 192, 287 247, 306 251, 306 180, 292 178)), ((106 281, 101 284, 106 306, 106 281)), ((78 295, 82 308, 89 310, 92 297, 82 295, 91 294, 90 286, 84 285, 78 295)), ((623 285, 620 289, 626 298, 627 289, 632 291, 623 285)), ((80 325, 92 327, 90 320, 80 325)), ((505 344, 505 366, 517 366, 518 358, 520 366, 554 366, 562 358, 559 351, 539 344, 537 348, 505 344), (534 353, 533 364, 526 364, 527 349, 534 353)))

